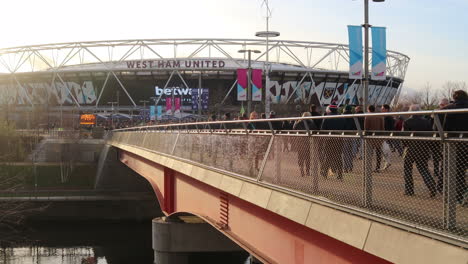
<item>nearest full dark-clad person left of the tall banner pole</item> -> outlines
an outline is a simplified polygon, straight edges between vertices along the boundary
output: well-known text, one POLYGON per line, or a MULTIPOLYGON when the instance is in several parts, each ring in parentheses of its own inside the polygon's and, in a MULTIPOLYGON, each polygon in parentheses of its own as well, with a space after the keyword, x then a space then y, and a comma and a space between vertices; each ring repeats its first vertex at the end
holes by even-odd
MULTIPOLYGON (((338 115, 338 107, 329 105, 327 115, 338 115)), ((324 119, 321 130, 344 130, 345 120, 343 118, 324 119)), ((332 170, 338 179, 343 179, 343 140, 340 138, 323 138, 323 156, 320 171, 322 177, 328 176, 328 170, 332 170)))

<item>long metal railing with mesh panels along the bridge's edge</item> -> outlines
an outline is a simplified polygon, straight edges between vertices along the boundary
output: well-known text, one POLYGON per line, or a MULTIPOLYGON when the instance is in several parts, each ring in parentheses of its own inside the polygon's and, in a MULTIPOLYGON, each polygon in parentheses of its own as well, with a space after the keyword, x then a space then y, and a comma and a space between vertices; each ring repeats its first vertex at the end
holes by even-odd
POLYGON ((468 109, 143 126, 114 130, 109 141, 467 247, 468 132, 443 127, 455 114, 468 109), (361 118, 410 115, 432 116, 434 131, 360 127, 361 118), (311 122, 332 119, 355 129, 312 129, 311 122), (302 130, 276 129, 297 120, 302 130))

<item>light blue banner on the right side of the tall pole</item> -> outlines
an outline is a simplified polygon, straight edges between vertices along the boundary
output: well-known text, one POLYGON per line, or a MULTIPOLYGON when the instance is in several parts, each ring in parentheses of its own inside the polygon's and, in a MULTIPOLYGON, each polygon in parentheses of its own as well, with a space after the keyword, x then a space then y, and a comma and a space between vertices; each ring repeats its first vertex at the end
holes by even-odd
POLYGON ((372 80, 385 80, 387 40, 384 27, 372 27, 372 80))

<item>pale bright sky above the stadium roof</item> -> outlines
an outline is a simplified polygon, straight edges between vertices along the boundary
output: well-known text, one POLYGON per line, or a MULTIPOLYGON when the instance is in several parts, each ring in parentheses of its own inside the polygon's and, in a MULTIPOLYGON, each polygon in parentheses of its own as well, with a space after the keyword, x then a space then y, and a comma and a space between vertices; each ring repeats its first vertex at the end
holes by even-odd
MULTIPOLYGON (((0 48, 137 38, 255 38, 263 0, 15 0, 2 3, 0 48)), ((280 39, 347 43, 364 0, 270 0, 280 39)), ((411 58, 405 87, 468 83, 468 0, 370 2, 370 23, 387 28, 387 49, 411 58)))

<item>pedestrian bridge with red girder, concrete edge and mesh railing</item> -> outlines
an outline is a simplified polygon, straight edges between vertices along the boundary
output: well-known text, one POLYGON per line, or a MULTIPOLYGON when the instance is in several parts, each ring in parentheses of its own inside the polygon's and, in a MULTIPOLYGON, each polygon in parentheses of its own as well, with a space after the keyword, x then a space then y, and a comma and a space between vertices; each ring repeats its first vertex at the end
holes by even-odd
POLYGON ((304 121, 274 130, 292 119, 168 124, 114 130, 107 144, 167 216, 196 215, 265 263, 466 264, 458 198, 468 134, 443 131, 449 112, 398 113, 438 113, 438 129, 420 133, 364 131, 365 115, 347 115, 326 119, 349 118, 356 130, 304 121))

